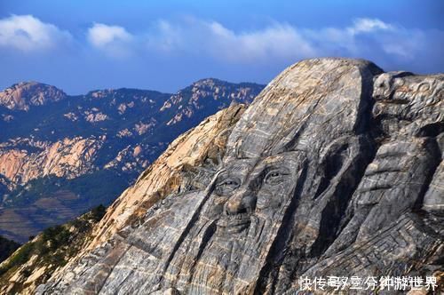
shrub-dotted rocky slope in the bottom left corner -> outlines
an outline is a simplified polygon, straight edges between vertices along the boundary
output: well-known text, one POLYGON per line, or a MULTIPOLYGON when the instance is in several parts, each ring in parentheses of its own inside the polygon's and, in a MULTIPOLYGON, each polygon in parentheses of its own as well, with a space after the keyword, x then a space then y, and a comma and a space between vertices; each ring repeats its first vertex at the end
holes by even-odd
POLYGON ((103 214, 105 207, 98 206, 62 226, 48 227, 17 251, 19 245, 9 251, 2 249, 4 239, 0 236, 0 249, 5 254, 13 252, 0 263, 0 293, 34 294, 36 287, 45 283, 54 270, 91 242, 92 227, 103 214))

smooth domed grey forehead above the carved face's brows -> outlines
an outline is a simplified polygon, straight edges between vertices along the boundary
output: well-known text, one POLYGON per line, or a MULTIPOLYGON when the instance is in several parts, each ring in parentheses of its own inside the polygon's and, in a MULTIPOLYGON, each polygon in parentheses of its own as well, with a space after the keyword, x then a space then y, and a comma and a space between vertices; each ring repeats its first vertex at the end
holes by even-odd
POLYGON ((226 156, 252 158, 310 150, 353 132, 362 112, 363 66, 350 67, 347 62, 309 60, 285 70, 236 124, 226 156))

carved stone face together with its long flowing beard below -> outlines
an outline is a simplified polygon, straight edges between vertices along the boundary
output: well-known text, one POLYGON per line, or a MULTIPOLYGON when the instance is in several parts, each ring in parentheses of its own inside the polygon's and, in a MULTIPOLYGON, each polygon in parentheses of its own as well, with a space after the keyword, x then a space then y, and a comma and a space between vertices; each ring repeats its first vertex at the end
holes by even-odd
POLYGON ((305 157, 302 151, 289 151, 231 159, 218 172, 200 218, 202 223, 215 223, 216 228, 199 244, 202 254, 194 267, 191 293, 216 292, 220 283, 230 292, 251 291, 253 286, 246 282, 252 282, 250 276, 263 267, 266 256, 259 253, 270 250, 297 196, 295 187, 305 157), (207 282, 204 286, 202 280, 207 282))

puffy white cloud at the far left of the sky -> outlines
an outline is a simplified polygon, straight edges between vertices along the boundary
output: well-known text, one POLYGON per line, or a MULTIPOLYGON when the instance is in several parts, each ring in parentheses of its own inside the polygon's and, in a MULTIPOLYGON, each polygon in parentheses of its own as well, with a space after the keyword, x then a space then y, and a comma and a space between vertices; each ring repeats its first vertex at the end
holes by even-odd
POLYGON ((67 43, 71 35, 32 15, 12 15, 0 20, 0 46, 22 52, 48 50, 67 43))

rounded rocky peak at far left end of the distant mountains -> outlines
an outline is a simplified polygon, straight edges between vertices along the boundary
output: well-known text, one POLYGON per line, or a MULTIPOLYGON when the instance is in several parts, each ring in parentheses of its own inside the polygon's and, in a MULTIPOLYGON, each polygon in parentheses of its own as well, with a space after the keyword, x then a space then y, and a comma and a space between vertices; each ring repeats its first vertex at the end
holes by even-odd
POLYGON ((37 82, 21 82, 0 92, 0 106, 12 110, 28 111, 31 106, 42 106, 48 102, 63 100, 65 92, 37 82))

